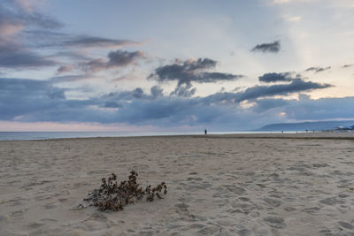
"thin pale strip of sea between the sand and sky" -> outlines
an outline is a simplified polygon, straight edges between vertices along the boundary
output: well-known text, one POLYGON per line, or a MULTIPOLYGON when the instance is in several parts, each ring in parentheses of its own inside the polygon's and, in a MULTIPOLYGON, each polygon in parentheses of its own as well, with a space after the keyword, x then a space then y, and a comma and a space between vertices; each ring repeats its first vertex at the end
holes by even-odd
MULTIPOLYGON (((230 133, 270 133, 270 132, 209 132, 208 134, 230 133)), ((275 132, 276 133, 276 132, 275 132)), ((287 132, 288 133, 288 132, 287 132)), ((31 141, 52 140, 65 138, 94 138, 94 137, 137 137, 137 136, 165 136, 165 135, 197 135, 201 132, 159 132, 159 133, 131 133, 131 132, 0 132, 0 141, 31 141)))

